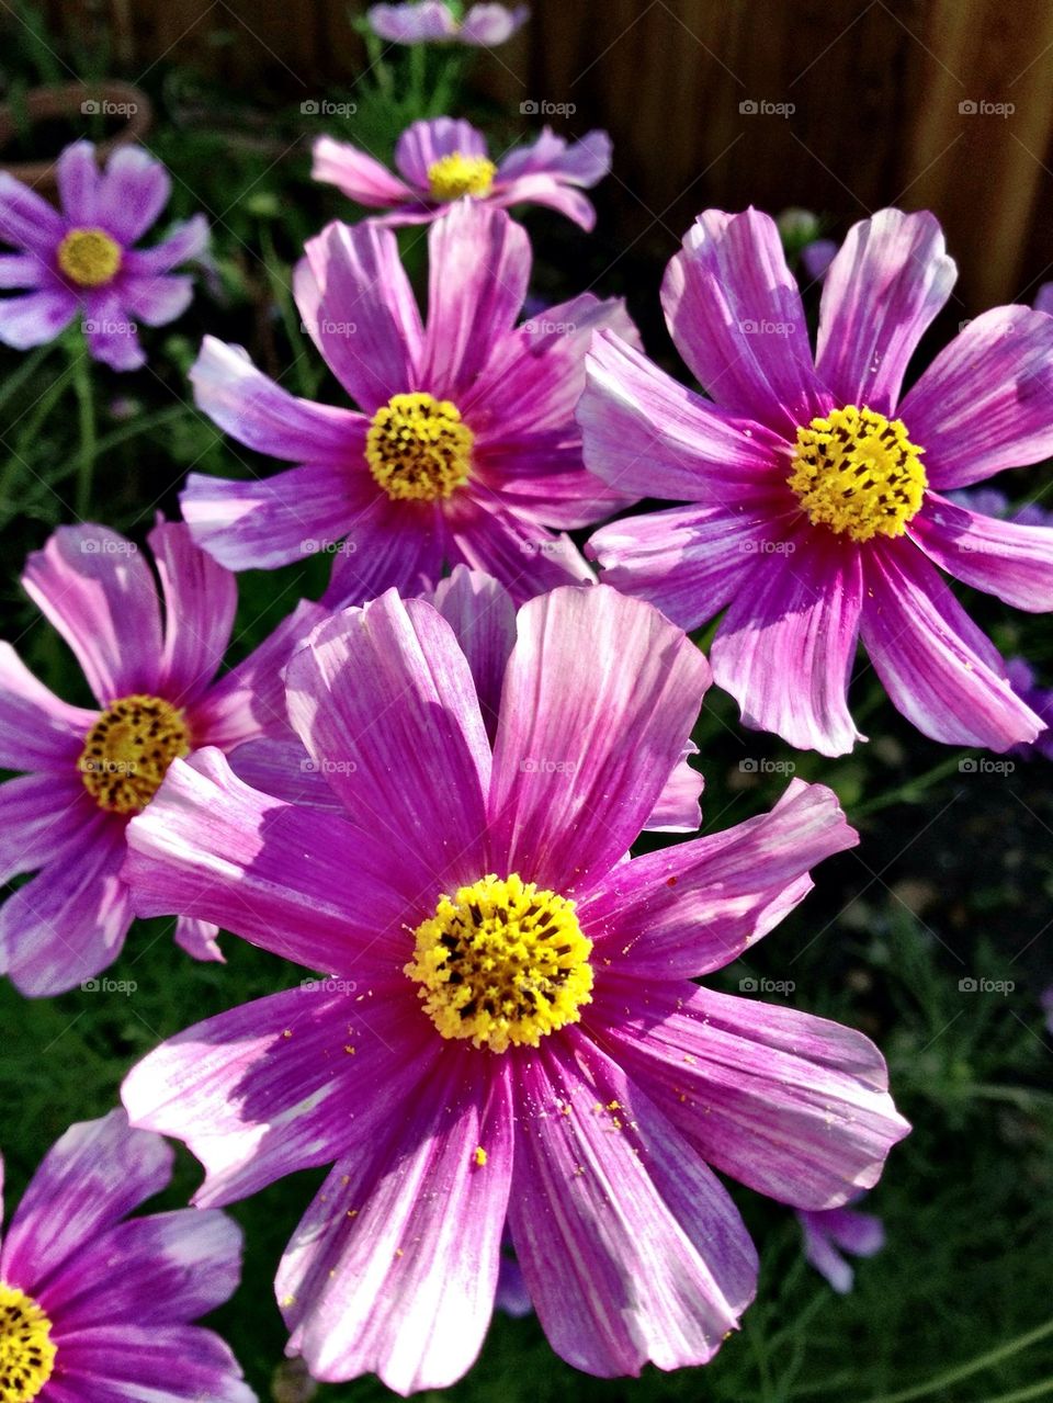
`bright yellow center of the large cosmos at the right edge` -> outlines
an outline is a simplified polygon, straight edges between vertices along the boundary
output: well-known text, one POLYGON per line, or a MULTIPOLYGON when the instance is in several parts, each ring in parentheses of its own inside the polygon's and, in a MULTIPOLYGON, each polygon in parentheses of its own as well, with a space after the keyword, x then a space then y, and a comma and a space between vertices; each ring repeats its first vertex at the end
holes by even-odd
POLYGON ((813 526, 852 540, 902 536, 928 485, 923 453, 902 419, 845 404, 798 428, 787 481, 813 526))

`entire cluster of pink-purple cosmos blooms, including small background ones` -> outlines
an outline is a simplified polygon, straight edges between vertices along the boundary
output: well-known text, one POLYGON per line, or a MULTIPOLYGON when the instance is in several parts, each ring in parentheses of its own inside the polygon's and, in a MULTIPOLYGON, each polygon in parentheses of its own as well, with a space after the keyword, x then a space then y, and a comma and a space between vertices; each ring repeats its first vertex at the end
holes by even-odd
MULTIPOLYGON (((494 43, 519 20, 374 11, 401 42, 494 43)), ((395 163, 315 146, 317 178, 381 212, 330 224, 294 271, 349 404, 296 398, 206 337, 199 410, 286 466, 191 474, 151 560, 101 525, 29 556, 93 707, 0 645, 0 765, 20 772, 0 867, 36 873, 0 911, 0 971, 60 993, 165 915, 198 960, 222 960, 222 927, 327 972, 164 1042, 123 1110, 48 1155, 0 1250, 4 1403, 251 1399, 192 1322, 237 1284, 222 1207, 304 1167, 332 1166, 276 1294, 318 1379, 450 1385, 495 1301, 596 1375, 705 1362, 757 1274, 715 1172, 798 1209, 847 1289, 840 1251, 875 1251, 881 1223, 845 1205, 909 1129, 883 1059, 695 981, 857 833, 794 780, 736 828, 628 854, 700 828, 711 683, 795 746, 864 739, 860 641, 925 735, 1042 744, 1049 699, 945 577, 1053 607, 1045 513, 969 491, 1053 455, 1053 317, 977 317, 902 394, 955 278, 932 216, 882 210, 823 255, 813 352, 773 220, 707 210, 662 286, 695 391, 620 302, 520 320, 531 253, 506 206, 589 229, 604 133, 545 130, 495 163, 439 118, 395 163), (411 222, 430 223, 423 316, 391 231, 411 222), (674 505, 625 512, 645 497, 674 505), (322 599, 223 672, 237 572, 317 550, 322 599), (718 615, 707 659, 684 630, 718 615), (195 1207, 129 1218, 168 1180, 165 1135, 205 1166, 195 1207)), ((80 142, 57 174, 59 209, 0 177, 0 340, 81 317, 91 355, 137 366, 130 324, 186 306, 205 220, 137 247, 170 191, 137 149, 100 171, 80 142)))

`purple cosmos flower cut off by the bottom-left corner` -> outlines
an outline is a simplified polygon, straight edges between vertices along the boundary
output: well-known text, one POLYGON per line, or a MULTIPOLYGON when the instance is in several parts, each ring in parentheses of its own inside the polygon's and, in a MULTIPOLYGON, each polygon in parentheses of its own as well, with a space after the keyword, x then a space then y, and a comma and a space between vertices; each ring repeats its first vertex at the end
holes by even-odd
POLYGON ((229 1347, 192 1323, 237 1288, 237 1223, 193 1208, 128 1216, 171 1177, 171 1148, 123 1111, 52 1146, 0 1247, 0 1397, 255 1403, 229 1347))

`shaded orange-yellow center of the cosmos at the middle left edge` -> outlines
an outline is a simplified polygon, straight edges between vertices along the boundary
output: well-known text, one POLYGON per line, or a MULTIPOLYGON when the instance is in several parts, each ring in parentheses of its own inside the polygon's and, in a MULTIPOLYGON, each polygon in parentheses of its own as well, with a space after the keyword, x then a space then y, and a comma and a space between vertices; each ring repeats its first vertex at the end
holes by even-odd
POLYGON ((189 749, 186 718, 170 702, 121 697, 84 737, 77 769, 100 808, 139 814, 160 788, 172 760, 189 755, 189 749))

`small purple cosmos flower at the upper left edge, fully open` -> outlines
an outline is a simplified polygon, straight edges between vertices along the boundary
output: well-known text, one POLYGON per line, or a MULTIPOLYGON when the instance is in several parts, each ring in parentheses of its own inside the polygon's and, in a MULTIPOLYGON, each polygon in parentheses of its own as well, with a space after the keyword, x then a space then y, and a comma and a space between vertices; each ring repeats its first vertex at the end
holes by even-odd
POLYGON ((137 321, 160 327, 189 306, 193 281, 172 269, 199 257, 209 241, 195 215, 160 244, 135 244, 168 203, 168 173, 137 146, 114 152, 104 173, 91 142, 74 142, 57 161, 53 209, 28 185, 0 171, 0 341, 22 351, 52 341, 81 317, 88 351, 115 370, 146 363, 137 321))

